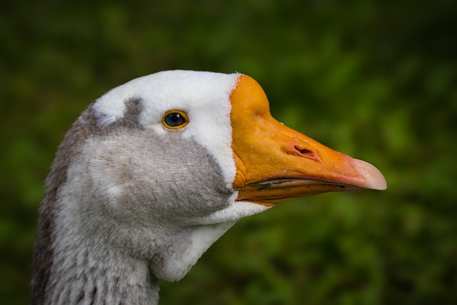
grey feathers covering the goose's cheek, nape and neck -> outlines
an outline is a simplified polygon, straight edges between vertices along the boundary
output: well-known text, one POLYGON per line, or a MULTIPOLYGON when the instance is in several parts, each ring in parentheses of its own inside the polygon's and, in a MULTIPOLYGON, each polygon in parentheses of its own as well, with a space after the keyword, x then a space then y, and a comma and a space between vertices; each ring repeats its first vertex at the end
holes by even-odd
POLYGON ((166 260, 191 242, 174 224, 229 204, 211 154, 144 129, 141 105, 129 99, 124 118, 101 128, 92 104, 66 134, 40 207, 31 304, 154 303, 166 260))

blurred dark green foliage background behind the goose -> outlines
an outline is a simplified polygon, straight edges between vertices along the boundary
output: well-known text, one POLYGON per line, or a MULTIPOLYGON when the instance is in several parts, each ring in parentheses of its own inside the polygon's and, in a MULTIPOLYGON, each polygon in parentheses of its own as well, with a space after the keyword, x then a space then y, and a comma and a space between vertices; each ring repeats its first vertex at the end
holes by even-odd
POLYGON ((25 304, 54 153, 91 101, 168 69, 253 76, 273 116, 387 191, 243 219, 161 304, 457 304, 456 1, 8 1, 0 303, 25 304))

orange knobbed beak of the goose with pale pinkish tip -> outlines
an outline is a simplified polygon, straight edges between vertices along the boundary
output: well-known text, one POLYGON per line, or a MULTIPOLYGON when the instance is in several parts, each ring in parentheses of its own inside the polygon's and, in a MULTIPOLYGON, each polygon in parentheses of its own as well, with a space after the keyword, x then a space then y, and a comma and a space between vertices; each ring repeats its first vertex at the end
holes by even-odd
POLYGON ((386 189, 373 165, 273 119, 263 89, 251 77, 239 77, 230 99, 237 201, 272 205, 328 191, 386 189))

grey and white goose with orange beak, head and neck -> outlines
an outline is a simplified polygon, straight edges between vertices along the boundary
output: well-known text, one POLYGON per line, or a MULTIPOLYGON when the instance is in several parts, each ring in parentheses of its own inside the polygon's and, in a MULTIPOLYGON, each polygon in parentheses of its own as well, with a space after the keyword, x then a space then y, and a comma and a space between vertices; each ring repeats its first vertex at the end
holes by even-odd
POLYGON ((39 207, 31 304, 157 304, 239 219, 329 191, 386 189, 375 166, 273 119, 244 74, 162 71, 96 99, 39 207))

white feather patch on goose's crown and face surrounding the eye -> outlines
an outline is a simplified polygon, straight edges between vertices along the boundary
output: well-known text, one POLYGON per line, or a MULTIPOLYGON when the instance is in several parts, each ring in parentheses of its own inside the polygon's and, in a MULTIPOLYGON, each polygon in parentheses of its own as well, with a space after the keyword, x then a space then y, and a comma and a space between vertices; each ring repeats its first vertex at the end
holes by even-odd
POLYGON ((124 116, 125 101, 143 101, 140 123, 157 134, 181 132, 206 147, 214 156, 229 185, 236 167, 231 149, 231 102, 240 74, 219 74, 196 71, 164 71, 134 79, 112 89, 96 101, 101 127, 124 116), (185 111, 189 124, 182 130, 168 130, 161 121, 169 110, 185 111))

